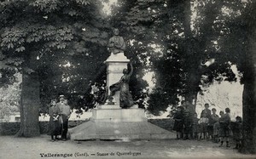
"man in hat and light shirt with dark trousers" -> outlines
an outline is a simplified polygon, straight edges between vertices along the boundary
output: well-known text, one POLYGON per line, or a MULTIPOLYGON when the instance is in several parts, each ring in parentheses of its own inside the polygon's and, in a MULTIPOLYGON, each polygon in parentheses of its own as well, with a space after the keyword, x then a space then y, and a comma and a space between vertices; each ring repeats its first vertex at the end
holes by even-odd
POLYGON ((67 140, 67 128, 68 128, 68 118, 71 115, 70 106, 67 105, 67 99, 64 95, 60 95, 60 102, 57 103, 60 109, 60 120, 61 120, 61 139, 63 141, 67 140))

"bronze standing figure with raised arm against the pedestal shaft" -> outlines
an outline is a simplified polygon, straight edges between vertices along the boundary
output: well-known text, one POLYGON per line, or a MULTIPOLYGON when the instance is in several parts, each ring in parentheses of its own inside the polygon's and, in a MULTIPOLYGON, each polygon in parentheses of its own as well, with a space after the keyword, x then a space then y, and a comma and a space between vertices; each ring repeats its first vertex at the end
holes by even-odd
MULTIPOLYGON (((130 63, 131 65, 131 63, 130 63)), ((128 69, 123 70, 123 76, 119 80, 119 82, 114 83, 109 87, 111 94, 114 95, 116 91, 120 91, 119 96, 119 103, 121 108, 130 108, 134 105, 134 101, 129 91, 129 82, 131 79, 131 75, 133 73, 133 67, 131 65, 131 71, 129 72, 128 69)))

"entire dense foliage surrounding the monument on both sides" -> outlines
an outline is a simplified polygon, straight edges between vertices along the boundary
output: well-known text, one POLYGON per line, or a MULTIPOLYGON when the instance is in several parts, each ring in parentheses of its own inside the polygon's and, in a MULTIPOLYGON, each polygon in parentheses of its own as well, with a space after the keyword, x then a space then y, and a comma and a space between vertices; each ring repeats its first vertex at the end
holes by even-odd
MULTIPOLYGON (((154 71, 148 110, 157 115, 177 105, 178 97, 195 100, 202 82, 236 81, 230 66, 241 65, 244 39, 236 37, 244 34, 234 21, 246 5, 218 0, 118 1, 106 17, 100 1, 2 1, 2 72, 11 76, 15 67, 38 72, 43 105, 66 94, 79 107, 81 95, 91 100, 91 83, 105 78, 106 43, 111 28, 118 27, 128 45, 125 54, 136 67, 131 81, 135 99, 148 96, 142 78, 154 71), (237 55, 230 56, 232 51, 237 55), (212 59, 212 65, 203 65, 212 59), (158 104, 155 95, 162 102, 158 104)), ((7 83, 9 77, 2 79, 7 83)))

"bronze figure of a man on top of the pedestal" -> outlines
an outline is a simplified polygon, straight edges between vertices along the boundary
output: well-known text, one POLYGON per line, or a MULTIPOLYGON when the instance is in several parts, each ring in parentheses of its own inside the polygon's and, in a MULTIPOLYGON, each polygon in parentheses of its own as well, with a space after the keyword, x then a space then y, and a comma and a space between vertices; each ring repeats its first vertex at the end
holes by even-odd
POLYGON ((108 50, 113 54, 123 53, 125 50, 124 38, 119 36, 119 29, 113 29, 113 37, 108 41, 108 50))

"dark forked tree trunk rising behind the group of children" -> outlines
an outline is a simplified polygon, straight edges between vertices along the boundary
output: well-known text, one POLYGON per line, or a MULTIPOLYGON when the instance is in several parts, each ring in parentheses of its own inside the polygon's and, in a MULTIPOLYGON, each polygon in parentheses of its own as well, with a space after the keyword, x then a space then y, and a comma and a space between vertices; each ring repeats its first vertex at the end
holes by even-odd
MULTIPOLYGON (((205 20, 203 25, 201 25, 201 35, 193 37, 191 31, 191 2, 184 0, 184 11, 183 11, 183 27, 184 35, 186 39, 186 64, 188 65, 188 79, 187 79, 187 94, 185 94, 185 99, 189 101, 189 104, 192 105, 192 110, 195 111, 196 96, 200 91, 199 85, 201 83, 201 76, 203 71, 201 70, 201 61, 207 59, 205 50, 207 49, 208 43, 211 41, 214 31, 212 26, 216 17, 221 12, 223 6, 223 1, 218 1, 211 5, 212 14, 204 13, 205 20), (200 43, 200 45, 198 45, 200 43)), ((208 7, 211 9, 211 7, 208 7)))

